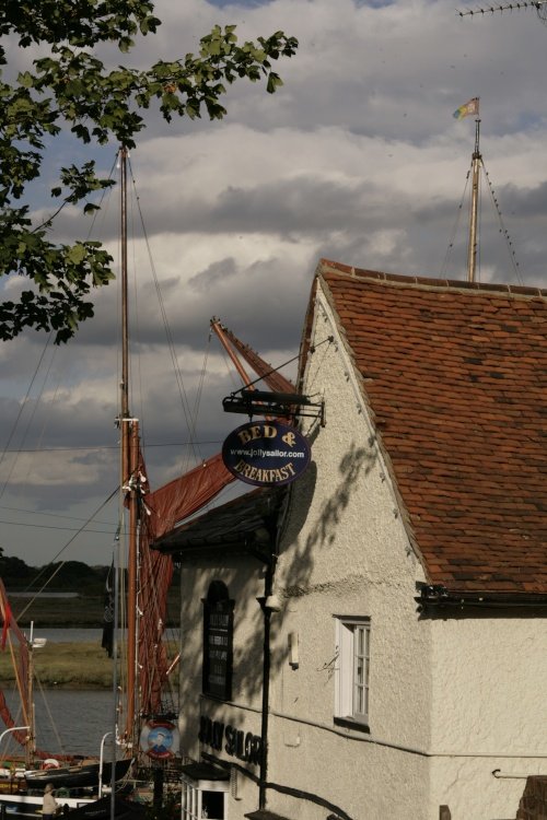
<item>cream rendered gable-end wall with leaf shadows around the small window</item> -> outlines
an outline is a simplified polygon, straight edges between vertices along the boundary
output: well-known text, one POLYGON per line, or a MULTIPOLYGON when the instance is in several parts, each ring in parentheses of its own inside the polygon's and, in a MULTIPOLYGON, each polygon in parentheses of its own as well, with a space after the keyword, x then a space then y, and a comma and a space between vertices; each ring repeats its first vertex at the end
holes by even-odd
MULTIPOLYGON (((351 363, 318 307, 303 391, 314 465, 293 484, 276 589, 269 780, 328 799, 352 820, 419 820, 429 810, 430 628, 417 618, 422 567, 410 549, 351 363), (322 343, 324 342, 324 343, 322 343), (335 726, 335 614, 371 619, 370 735, 335 726), (287 656, 299 635, 299 668, 287 656)), ((270 795, 289 818, 324 820, 312 800, 270 795)), ((336 815, 336 810, 334 811, 336 815)), ((438 817, 438 815, 437 815, 438 817)))

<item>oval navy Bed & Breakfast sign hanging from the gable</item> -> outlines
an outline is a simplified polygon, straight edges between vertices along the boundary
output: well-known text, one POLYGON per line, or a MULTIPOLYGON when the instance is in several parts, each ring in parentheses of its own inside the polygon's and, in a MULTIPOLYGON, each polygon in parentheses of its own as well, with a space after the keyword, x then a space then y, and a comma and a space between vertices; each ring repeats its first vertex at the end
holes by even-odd
POLYGON ((256 487, 290 484, 310 464, 307 440, 279 421, 253 421, 233 430, 222 445, 230 472, 256 487))

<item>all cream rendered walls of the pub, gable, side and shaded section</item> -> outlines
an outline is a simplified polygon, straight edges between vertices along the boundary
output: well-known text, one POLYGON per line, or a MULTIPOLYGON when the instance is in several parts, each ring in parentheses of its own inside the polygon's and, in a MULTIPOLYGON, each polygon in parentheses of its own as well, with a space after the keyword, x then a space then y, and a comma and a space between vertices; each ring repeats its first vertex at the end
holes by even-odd
MULTIPOLYGON (((271 788, 268 808, 291 820, 325 820, 321 799, 351 820, 439 820, 441 805, 452 820, 514 818, 525 776, 547 773, 545 621, 420 618, 422 566, 321 293, 313 343, 303 390, 325 398, 327 425, 306 420, 313 464, 292 485, 280 544, 268 781, 317 799, 271 788), (370 734, 334 723, 336 614, 371 619, 370 734)), ((259 734, 264 577, 248 559, 182 575, 182 748, 199 759, 199 713, 259 734), (232 704, 200 694, 201 598, 213 579, 236 599, 232 704)), ((254 783, 240 776, 237 789, 229 820, 257 808, 254 783)))

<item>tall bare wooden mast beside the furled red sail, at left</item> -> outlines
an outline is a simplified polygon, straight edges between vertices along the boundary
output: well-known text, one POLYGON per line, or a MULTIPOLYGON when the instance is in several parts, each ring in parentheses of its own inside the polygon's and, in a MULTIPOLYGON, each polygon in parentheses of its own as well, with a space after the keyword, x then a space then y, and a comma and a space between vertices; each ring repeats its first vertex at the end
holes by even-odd
POLYGON ((127 274, 127 148, 121 147, 121 383, 120 383, 120 432, 121 432, 121 492, 128 513, 127 559, 127 703, 126 741, 133 745, 137 669, 137 529, 138 488, 135 477, 139 457, 139 422, 129 412, 129 308, 127 274))

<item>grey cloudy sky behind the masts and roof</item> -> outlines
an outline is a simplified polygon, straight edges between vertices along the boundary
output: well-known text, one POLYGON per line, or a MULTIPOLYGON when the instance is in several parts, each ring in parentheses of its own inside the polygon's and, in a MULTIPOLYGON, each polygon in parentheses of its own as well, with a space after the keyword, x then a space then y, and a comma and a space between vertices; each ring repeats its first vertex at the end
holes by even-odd
MULTIPOLYGON (((236 24, 240 39, 282 30, 300 48, 278 63, 284 85, 275 95, 242 81, 229 91, 222 122, 167 126, 152 114, 131 153, 131 411, 153 488, 218 452, 245 420, 222 413, 238 383, 210 338, 211 316, 278 366, 298 352, 322 257, 465 279, 475 119, 453 113, 470 97, 480 97, 488 174, 478 278, 547 286, 547 28, 533 9, 461 17, 458 8, 451 0, 156 4, 163 26, 127 63, 196 51, 217 23, 236 24)), ((94 155, 108 172, 116 147, 94 155)), ((81 147, 60 143, 49 172, 82 157, 81 147)), ((36 218, 46 203, 37 190, 36 218)), ((62 214, 56 236, 86 238, 92 230, 118 260, 117 213, 114 194, 93 225, 62 214)), ((4 283, 12 293, 19 286, 4 283)), ((117 286, 95 304, 95 319, 62 349, 36 332, 0 349, 0 547, 32 565, 112 558, 117 286)), ((294 364, 283 372, 291 376, 294 364)))

